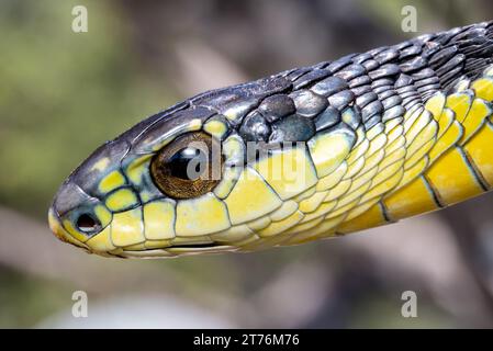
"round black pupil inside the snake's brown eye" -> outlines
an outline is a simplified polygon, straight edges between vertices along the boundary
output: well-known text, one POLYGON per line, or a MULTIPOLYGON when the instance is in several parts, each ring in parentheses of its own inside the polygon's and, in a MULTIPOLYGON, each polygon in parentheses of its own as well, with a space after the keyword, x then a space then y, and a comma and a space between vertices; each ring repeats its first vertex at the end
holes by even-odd
POLYGON ((173 156, 167 162, 172 177, 188 180, 195 180, 204 171, 206 158, 202 150, 187 147, 173 156), (190 163, 193 161, 192 163, 190 163))

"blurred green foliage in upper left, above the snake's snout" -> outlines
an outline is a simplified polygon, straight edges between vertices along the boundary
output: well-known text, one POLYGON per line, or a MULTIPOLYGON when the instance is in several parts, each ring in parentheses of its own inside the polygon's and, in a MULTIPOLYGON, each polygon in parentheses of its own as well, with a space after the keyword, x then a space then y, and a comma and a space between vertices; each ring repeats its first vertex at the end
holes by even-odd
POLYGON ((80 1, 0 3, 0 200, 44 214, 58 183, 98 144, 167 106, 166 82, 143 77, 120 10, 80 1))

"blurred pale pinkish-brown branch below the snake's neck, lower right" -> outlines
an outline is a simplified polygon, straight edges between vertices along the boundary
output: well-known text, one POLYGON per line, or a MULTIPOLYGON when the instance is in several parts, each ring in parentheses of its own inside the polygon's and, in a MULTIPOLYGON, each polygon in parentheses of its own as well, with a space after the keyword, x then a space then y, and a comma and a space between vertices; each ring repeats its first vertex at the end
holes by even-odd
MULTIPOLYGON (((432 294, 462 326, 492 326, 490 296, 468 268, 460 242, 437 218, 437 214, 408 218, 333 240, 334 251, 352 248, 341 256, 347 259, 347 271, 339 291, 345 287, 346 295, 356 296, 365 293, 361 284, 344 284, 348 278, 352 282, 366 281, 365 286, 380 284, 386 286, 385 291, 397 291, 395 299, 403 291, 413 290, 419 292, 419 298, 432 294)), ((324 256, 327 265, 330 256, 324 256)))

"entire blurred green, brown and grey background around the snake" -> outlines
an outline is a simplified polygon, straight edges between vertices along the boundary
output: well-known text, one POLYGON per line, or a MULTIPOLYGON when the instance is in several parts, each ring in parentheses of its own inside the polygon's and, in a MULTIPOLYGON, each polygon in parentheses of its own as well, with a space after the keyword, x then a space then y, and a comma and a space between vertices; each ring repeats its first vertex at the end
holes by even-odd
POLYGON ((493 194, 258 253, 137 261, 57 241, 46 212, 98 145, 203 90, 492 20, 493 2, 0 2, 0 327, 493 327, 493 194), (83 4, 89 32, 71 31, 83 4), (401 294, 417 294, 417 318, 401 294), (75 291, 89 317, 71 316, 75 291))

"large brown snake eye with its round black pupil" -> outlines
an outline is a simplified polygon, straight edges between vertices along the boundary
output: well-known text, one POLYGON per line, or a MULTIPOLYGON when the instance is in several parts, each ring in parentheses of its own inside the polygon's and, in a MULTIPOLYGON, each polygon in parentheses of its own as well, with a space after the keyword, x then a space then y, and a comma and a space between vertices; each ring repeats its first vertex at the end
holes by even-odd
POLYGON ((209 134, 188 133, 165 146, 150 162, 156 186, 172 199, 197 197, 221 180, 223 157, 209 134))

